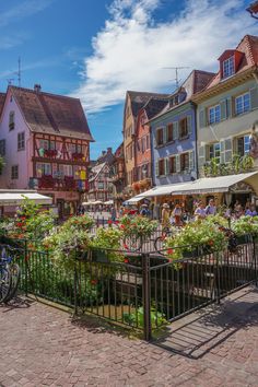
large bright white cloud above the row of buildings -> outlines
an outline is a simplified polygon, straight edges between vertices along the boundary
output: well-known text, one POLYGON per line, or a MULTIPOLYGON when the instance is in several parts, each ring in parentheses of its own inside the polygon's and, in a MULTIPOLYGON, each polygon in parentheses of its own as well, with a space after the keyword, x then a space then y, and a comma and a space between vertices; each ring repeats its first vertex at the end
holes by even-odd
POLYGON ((93 55, 84 59, 81 85, 73 93, 87 113, 122 102, 127 90, 168 91, 174 71, 166 67, 216 71, 224 49, 234 48, 246 33, 256 33, 244 0, 187 0, 176 19, 157 24, 159 5, 161 0, 113 2, 110 19, 93 38, 93 55))

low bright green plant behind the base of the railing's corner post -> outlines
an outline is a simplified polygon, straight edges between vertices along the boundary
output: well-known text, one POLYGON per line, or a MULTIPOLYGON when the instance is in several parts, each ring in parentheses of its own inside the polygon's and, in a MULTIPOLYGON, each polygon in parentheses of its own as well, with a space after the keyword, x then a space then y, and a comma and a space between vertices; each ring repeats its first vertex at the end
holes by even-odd
MULTIPOLYGON (((144 312, 143 307, 139 307, 136 312, 124 313, 124 320, 131 327, 143 328, 144 326, 144 312)), ((161 327, 166 324, 164 315, 161 312, 157 312, 155 307, 151 308, 151 327, 153 329, 161 327)))

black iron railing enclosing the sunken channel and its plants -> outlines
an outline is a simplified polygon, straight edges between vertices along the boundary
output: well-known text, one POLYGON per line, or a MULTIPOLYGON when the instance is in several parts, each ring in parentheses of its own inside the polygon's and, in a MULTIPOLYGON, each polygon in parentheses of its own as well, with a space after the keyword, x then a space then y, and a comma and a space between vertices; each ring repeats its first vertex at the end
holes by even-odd
POLYGON ((257 281, 257 242, 251 236, 234 253, 195 249, 173 260, 166 253, 94 248, 61 265, 36 243, 19 241, 15 259, 25 293, 142 330, 146 340, 164 324, 257 281))

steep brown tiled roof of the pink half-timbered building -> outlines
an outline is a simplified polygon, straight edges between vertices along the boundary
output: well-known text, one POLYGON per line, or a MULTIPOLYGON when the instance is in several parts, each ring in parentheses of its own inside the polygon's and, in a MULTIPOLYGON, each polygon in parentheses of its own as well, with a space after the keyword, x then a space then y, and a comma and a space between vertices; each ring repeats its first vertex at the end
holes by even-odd
POLYGON ((9 91, 32 131, 94 141, 80 99, 16 86, 9 91))

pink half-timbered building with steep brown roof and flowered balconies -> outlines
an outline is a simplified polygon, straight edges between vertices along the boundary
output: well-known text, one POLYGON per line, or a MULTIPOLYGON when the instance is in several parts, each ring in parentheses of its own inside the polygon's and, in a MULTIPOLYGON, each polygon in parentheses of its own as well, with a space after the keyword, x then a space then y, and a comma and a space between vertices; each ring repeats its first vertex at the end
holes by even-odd
POLYGON ((39 85, 9 86, 0 117, 0 188, 35 188, 52 197, 61 216, 74 212, 87 189, 91 141, 79 99, 39 85))

